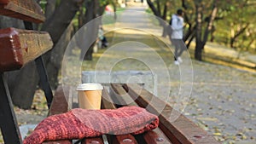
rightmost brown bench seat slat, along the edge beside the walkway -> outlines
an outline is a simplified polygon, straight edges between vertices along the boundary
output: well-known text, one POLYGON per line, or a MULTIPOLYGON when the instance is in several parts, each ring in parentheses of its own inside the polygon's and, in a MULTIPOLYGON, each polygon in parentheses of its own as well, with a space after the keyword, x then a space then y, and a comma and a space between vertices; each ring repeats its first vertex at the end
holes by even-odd
MULTIPOLYGON (((189 118, 184 117, 183 114, 172 109, 169 104, 165 101, 161 101, 158 97, 149 93, 148 90, 143 89, 137 84, 125 84, 125 89, 133 99, 136 99, 140 107, 146 107, 149 112, 159 115, 161 129, 168 137, 174 136, 177 141, 183 144, 219 143, 211 135, 208 135, 207 131, 202 130, 189 120, 189 118), (163 106, 165 107, 160 111, 163 106), (177 117, 172 123, 169 121, 171 116, 174 118, 177 117)), ((173 143, 175 143, 175 140, 173 143)))

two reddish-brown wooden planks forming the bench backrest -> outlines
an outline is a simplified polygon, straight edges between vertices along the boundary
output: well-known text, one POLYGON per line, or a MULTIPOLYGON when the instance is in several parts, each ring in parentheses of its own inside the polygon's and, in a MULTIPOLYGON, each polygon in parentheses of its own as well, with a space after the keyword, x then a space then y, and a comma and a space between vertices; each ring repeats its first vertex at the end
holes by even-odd
MULTIPOLYGON (((29 22, 44 22, 34 0, 0 0, 0 14, 29 22)), ((0 30, 0 72, 20 69, 53 46, 48 32, 6 28, 0 30)))

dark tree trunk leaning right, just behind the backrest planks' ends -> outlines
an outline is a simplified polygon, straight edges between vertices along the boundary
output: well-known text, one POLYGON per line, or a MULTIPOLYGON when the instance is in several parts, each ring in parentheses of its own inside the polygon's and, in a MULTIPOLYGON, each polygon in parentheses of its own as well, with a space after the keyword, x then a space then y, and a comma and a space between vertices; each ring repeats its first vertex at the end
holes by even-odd
MULTIPOLYGON (((55 9, 55 13, 45 21, 42 31, 49 32, 54 49, 62 34, 66 31, 74 15, 79 10, 79 3, 75 0, 61 0, 60 5, 55 9), (65 10, 63 10, 65 9, 65 10)), ((57 48, 56 48, 57 49, 57 48)), ((59 48, 59 50, 51 50, 44 55, 45 66, 49 75, 49 84, 52 88, 56 88, 59 70, 61 68, 61 61, 64 55, 66 46, 59 48)))

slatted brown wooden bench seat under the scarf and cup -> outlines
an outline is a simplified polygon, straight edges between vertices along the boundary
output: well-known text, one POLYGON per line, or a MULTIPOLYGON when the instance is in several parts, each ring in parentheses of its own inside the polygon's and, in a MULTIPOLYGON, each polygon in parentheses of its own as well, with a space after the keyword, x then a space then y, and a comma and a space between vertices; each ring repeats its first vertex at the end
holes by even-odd
MULTIPOLYGON (((88 138, 82 141, 83 144, 100 143, 108 141, 109 144, 123 143, 148 143, 148 144, 187 144, 187 143, 219 143, 207 131, 202 130, 195 123, 183 114, 174 110, 165 101, 143 89, 138 84, 110 84, 109 90, 102 91, 102 109, 114 109, 124 106, 143 107, 159 116, 160 126, 155 130, 150 130, 142 135, 103 135, 95 138, 88 138), (170 120, 170 117, 174 120, 170 120)), ((106 87, 105 87, 106 88, 106 87)), ((107 87, 108 88, 108 87, 107 87)), ((59 88, 54 96, 50 113, 61 113, 67 110, 67 101, 63 89, 59 88), (61 102, 62 101, 62 102, 61 102), (60 103, 61 102, 61 103, 60 103), (58 106, 58 107, 56 107, 58 106)), ((73 108, 77 103, 73 103, 73 108)), ((48 141, 44 144, 65 143, 71 144, 71 140, 48 141)))

